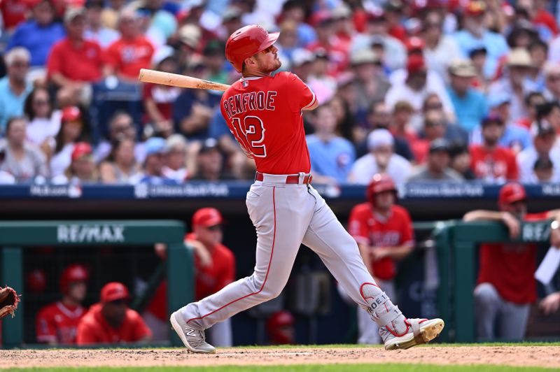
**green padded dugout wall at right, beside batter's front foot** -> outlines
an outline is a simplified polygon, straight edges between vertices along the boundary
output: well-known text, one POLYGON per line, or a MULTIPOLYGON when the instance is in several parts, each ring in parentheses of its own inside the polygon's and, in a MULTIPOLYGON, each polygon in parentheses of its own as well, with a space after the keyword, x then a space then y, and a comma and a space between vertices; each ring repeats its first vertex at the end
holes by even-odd
MULTIPOLYGON (((442 341, 475 341, 475 314, 472 292, 480 243, 542 243, 549 241, 550 221, 521 225, 517 241, 511 241, 500 222, 445 222, 437 225, 435 241, 440 269, 438 304, 446 322, 442 341)), ((536 268, 535 268, 536 269, 536 268)))

